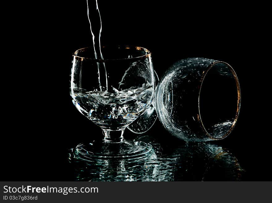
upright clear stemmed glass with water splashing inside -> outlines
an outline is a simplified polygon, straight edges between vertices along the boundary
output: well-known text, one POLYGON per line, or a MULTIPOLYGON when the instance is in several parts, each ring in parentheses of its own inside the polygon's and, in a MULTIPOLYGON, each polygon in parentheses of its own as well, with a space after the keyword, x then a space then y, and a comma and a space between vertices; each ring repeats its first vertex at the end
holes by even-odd
POLYGON ((104 135, 103 141, 79 144, 74 156, 85 160, 146 156, 152 146, 127 142, 123 133, 153 99, 151 53, 133 46, 102 47, 101 52, 104 59, 94 59, 92 47, 79 49, 73 55, 70 95, 74 106, 101 127, 104 135))

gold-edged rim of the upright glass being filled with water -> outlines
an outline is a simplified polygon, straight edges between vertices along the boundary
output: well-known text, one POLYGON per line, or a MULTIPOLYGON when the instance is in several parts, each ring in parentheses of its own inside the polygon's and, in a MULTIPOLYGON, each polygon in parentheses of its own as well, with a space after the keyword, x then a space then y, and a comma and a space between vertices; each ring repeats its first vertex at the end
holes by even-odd
POLYGON ((94 61, 94 62, 104 63, 104 62, 108 62, 108 61, 117 61, 117 60, 142 59, 142 58, 148 58, 148 57, 151 56, 151 51, 149 51, 146 48, 139 47, 139 46, 132 46, 132 45, 102 46, 102 48, 105 48, 105 47, 116 47, 116 48, 124 47, 125 49, 136 48, 136 50, 139 50, 139 51, 144 50, 148 54, 140 55, 140 56, 136 56, 136 57, 132 57, 132 58, 123 58, 123 59, 93 59, 93 58, 88 58, 88 57, 77 56, 77 54, 78 54, 78 52, 80 50, 84 50, 84 49, 87 49, 87 48, 93 48, 93 47, 84 47, 84 48, 80 48, 80 49, 74 51, 73 57, 80 58, 80 59, 87 59, 87 60, 91 60, 91 61, 94 61))

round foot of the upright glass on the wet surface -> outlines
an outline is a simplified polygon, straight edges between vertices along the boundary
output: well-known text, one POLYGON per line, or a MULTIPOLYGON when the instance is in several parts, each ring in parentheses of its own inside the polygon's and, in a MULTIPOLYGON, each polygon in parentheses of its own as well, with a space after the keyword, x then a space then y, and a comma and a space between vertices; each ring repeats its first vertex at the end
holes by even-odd
POLYGON ((141 141, 128 142, 123 140, 120 143, 107 143, 104 141, 93 141, 82 143, 73 149, 75 159, 94 161, 103 159, 142 159, 152 154, 151 144, 141 141))

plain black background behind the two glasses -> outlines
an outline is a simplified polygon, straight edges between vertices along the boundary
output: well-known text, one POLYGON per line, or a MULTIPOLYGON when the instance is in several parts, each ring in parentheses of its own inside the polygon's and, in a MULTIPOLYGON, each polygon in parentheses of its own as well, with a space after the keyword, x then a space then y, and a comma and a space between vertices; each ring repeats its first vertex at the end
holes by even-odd
MULTIPOLYGON (((229 63, 238 75, 242 104, 230 148, 243 180, 272 180, 270 173, 270 68, 262 14, 256 5, 179 1, 102 1, 101 43, 137 45, 152 52, 159 77, 187 57, 229 63), (266 118, 267 116, 267 118, 266 118)), ((3 24, 2 181, 65 181, 68 149, 101 130, 74 108, 69 95, 72 53, 92 45, 86 1, 19 5, 3 24), (15 17, 15 19, 14 19, 15 17)), ((148 132, 183 142, 159 121, 148 132)), ((128 130, 125 136, 134 135, 128 130)))

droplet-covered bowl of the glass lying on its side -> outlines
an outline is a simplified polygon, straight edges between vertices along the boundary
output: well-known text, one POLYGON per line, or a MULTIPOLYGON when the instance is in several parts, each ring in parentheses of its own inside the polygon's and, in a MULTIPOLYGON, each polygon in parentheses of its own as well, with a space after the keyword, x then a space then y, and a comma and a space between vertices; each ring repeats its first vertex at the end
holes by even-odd
POLYGON ((227 137, 240 111, 240 85, 232 67, 222 61, 188 58, 177 61, 156 87, 160 122, 185 141, 227 137))

